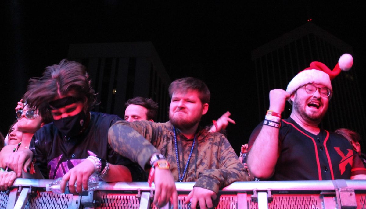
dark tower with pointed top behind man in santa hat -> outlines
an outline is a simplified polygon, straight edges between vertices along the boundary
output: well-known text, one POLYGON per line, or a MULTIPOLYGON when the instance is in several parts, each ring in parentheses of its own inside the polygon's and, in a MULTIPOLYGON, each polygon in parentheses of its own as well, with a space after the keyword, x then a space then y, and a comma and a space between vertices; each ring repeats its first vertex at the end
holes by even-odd
MULTIPOLYGON (((285 90, 291 79, 312 61, 323 62, 333 69, 344 53, 352 54, 352 47, 311 22, 253 50, 258 121, 263 120, 268 110, 270 90, 285 90)), ((366 118, 355 68, 341 72, 332 81, 332 87, 333 96, 322 128, 331 131, 348 128, 365 137, 366 118)), ((287 103, 283 118, 289 117, 290 113, 291 105, 287 103)))

